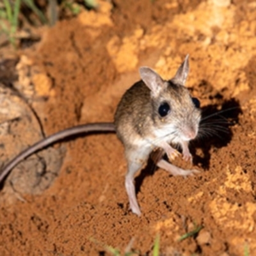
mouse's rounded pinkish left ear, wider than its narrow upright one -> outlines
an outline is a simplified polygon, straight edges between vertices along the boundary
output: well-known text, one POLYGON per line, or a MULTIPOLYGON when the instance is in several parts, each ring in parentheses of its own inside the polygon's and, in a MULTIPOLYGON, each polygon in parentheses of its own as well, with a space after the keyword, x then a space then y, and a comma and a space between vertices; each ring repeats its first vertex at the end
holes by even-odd
POLYGON ((157 72, 148 67, 140 68, 140 77, 148 86, 153 97, 157 97, 164 87, 164 80, 157 72))

